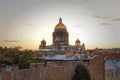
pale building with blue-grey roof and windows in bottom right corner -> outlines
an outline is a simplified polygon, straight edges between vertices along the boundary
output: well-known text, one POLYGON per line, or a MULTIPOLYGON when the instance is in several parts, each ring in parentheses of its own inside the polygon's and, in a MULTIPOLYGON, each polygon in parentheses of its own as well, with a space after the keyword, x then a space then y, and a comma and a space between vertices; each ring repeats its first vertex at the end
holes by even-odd
POLYGON ((120 60, 105 60, 105 80, 120 80, 120 60))

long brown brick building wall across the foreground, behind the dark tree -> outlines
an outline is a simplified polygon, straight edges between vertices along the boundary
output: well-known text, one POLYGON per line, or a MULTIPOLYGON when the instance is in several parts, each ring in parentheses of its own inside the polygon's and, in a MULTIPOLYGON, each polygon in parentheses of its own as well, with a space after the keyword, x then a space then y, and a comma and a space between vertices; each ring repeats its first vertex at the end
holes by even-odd
POLYGON ((91 80, 104 80, 104 60, 99 57, 89 61, 31 63, 29 69, 18 69, 16 65, 0 67, 0 80, 72 80, 77 64, 89 70, 91 80))

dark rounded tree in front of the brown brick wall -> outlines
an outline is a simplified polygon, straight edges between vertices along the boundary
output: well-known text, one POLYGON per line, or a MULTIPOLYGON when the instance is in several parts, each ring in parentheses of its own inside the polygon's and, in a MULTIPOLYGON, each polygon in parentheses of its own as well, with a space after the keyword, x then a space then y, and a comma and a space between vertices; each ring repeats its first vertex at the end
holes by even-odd
POLYGON ((78 64, 75 68, 75 74, 73 75, 72 80, 91 80, 89 71, 84 65, 78 64))

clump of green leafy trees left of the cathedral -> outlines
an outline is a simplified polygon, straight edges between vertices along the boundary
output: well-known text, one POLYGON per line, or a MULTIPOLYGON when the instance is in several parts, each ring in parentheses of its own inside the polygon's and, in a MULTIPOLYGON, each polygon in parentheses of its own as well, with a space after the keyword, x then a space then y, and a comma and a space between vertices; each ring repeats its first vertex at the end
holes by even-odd
POLYGON ((17 64, 20 69, 29 68, 29 64, 32 61, 32 51, 24 50, 20 51, 17 49, 10 49, 5 51, 5 57, 2 63, 7 65, 17 64))

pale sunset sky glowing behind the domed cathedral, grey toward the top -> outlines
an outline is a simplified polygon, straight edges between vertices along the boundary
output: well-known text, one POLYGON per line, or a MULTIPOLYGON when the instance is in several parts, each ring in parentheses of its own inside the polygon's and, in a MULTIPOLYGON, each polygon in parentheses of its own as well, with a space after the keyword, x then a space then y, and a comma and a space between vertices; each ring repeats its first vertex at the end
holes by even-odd
POLYGON ((0 46, 38 49, 52 44, 59 18, 87 49, 120 48, 120 0, 0 0, 0 46))

